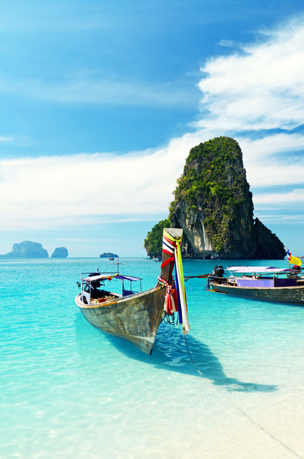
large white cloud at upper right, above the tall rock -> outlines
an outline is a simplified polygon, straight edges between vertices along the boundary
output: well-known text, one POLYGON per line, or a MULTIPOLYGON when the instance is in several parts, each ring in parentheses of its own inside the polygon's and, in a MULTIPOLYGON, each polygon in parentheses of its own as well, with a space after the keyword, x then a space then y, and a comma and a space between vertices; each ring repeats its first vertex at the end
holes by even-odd
POLYGON ((199 83, 210 115, 207 129, 290 128, 304 121, 304 23, 293 20, 261 34, 265 43, 243 46, 246 55, 211 59, 199 83))

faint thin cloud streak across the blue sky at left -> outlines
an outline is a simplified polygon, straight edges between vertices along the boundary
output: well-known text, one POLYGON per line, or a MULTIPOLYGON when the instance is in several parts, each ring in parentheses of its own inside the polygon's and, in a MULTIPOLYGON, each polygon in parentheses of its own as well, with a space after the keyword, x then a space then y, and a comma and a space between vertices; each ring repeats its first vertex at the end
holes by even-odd
POLYGON ((24 79, 0 79, 0 93, 30 97, 59 103, 84 103, 96 105, 193 107, 197 104, 195 91, 187 90, 180 81, 153 84, 136 80, 113 81, 79 75, 54 83, 24 79))

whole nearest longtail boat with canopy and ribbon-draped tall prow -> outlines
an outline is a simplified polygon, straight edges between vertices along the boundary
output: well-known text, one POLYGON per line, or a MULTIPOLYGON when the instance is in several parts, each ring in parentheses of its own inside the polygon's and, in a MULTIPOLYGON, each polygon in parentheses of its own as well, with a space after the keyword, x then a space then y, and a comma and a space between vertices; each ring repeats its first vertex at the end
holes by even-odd
MULTIPOLYGON (((129 341, 147 354, 152 353, 158 326, 166 315, 178 312, 183 333, 187 334, 190 326, 180 254, 182 234, 182 229, 163 230, 160 275, 155 287, 146 291, 133 291, 132 283, 138 280, 141 283, 141 278, 121 275, 118 269, 117 273, 82 273, 81 283, 77 282, 81 292, 75 303, 84 318, 98 330, 129 341), (176 286, 172 276, 174 266, 176 286), (122 295, 102 289, 106 281, 114 279, 122 281, 122 295), (126 281, 130 282, 129 289, 124 288, 126 281)), ((118 267, 120 263, 116 264, 118 267)))

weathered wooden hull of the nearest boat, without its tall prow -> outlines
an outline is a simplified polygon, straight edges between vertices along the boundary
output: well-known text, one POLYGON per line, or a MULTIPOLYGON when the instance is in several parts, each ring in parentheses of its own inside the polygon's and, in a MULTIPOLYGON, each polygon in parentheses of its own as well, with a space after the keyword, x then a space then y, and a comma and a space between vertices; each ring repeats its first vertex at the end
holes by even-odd
POLYGON ((129 341, 150 355, 158 325, 164 318, 165 294, 165 287, 158 286, 115 301, 90 305, 81 302, 79 294, 75 303, 93 327, 129 341))

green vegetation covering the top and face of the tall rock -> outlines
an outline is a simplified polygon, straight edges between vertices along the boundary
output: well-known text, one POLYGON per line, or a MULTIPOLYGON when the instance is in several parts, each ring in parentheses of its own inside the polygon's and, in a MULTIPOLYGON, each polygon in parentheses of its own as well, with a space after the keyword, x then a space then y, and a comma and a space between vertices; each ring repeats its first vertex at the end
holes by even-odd
POLYGON ((191 148, 184 173, 177 180, 169 220, 174 220, 180 201, 186 202, 189 219, 199 208, 203 209, 206 236, 214 250, 233 251, 235 246, 228 234, 229 223, 236 208, 252 198, 245 174, 241 148, 230 137, 216 137, 191 148))

